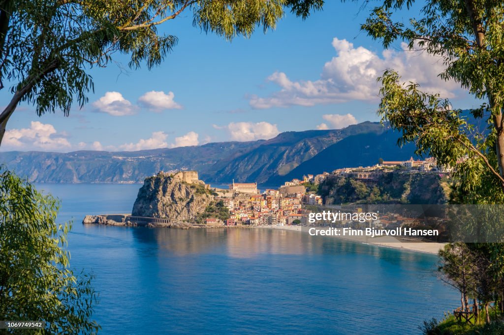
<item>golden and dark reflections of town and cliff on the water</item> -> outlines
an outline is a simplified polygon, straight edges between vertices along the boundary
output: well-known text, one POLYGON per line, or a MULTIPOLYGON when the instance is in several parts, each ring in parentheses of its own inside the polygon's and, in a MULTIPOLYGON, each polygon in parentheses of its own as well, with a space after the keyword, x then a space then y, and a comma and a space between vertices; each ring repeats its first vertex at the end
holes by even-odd
MULTIPOLYGON (((128 228, 126 228, 128 229, 128 228)), ((436 262, 436 256, 368 245, 334 237, 267 228, 170 229, 132 228, 138 242, 164 254, 226 254, 234 258, 271 255, 370 255, 393 265, 436 262)))

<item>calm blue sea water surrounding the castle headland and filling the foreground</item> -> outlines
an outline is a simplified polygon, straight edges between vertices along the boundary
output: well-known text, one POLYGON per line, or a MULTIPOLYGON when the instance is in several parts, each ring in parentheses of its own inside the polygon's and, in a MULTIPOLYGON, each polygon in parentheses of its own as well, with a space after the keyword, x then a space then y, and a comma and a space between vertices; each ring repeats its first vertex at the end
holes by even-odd
POLYGON ((419 333, 457 306, 435 256, 268 229, 83 226, 141 185, 37 185, 74 218, 71 264, 96 276, 104 334, 419 333))

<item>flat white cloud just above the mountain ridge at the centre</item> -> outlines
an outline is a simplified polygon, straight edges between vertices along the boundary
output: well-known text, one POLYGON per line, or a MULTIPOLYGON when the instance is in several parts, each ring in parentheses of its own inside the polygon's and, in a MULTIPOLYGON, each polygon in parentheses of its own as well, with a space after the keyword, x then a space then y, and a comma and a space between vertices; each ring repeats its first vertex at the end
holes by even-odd
POLYGON ((214 128, 226 129, 235 141, 270 139, 280 133, 276 124, 268 122, 231 122, 227 126, 214 125, 214 128))

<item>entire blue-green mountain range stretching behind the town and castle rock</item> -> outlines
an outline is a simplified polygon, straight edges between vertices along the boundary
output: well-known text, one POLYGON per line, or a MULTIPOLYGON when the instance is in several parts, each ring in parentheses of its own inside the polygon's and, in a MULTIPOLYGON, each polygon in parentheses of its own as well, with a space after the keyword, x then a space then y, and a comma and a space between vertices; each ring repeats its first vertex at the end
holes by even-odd
POLYGON ((159 171, 197 170, 207 183, 276 186, 340 167, 404 160, 414 145, 396 145, 398 133, 376 122, 336 130, 289 131, 269 140, 217 142, 140 151, 0 152, 0 161, 39 183, 132 183, 159 171))

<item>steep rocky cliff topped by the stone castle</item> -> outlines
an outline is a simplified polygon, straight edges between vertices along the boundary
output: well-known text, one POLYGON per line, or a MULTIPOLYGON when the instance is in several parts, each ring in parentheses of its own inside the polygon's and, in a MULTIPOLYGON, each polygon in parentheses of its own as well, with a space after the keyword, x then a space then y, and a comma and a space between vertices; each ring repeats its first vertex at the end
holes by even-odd
POLYGON ((204 213, 213 200, 212 192, 198 180, 197 172, 161 172, 145 179, 132 215, 191 222, 204 213))

